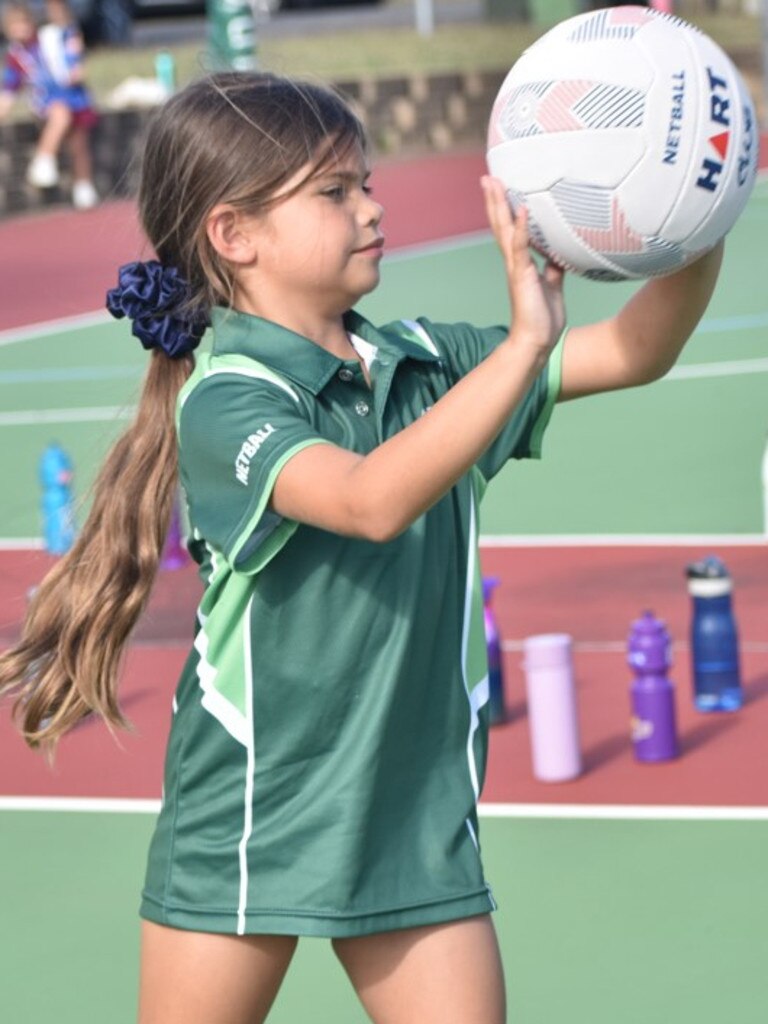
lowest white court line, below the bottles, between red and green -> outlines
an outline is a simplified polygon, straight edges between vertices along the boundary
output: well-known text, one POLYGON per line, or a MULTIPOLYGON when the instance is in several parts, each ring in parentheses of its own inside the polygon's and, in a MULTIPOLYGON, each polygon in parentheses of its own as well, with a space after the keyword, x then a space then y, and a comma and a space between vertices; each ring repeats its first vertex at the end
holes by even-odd
MULTIPOLYGON (((1 811, 157 814, 159 800, 98 797, 0 797, 1 811)), ((768 821, 768 807, 693 807, 636 804, 484 804, 485 818, 555 818, 602 821, 768 821)))

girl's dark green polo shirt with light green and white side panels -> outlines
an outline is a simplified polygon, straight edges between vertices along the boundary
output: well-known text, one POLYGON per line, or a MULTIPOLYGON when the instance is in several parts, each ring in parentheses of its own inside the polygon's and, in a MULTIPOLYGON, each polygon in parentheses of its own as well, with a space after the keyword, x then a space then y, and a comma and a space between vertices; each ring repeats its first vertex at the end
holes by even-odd
POLYGON ((476 817, 488 698, 478 506, 509 458, 539 456, 559 348, 476 467, 374 544, 272 512, 282 467, 309 444, 371 452, 507 332, 375 328, 355 312, 346 327, 371 387, 356 361, 216 310, 212 351, 179 397, 205 592, 150 854, 153 921, 341 937, 495 905, 476 817))

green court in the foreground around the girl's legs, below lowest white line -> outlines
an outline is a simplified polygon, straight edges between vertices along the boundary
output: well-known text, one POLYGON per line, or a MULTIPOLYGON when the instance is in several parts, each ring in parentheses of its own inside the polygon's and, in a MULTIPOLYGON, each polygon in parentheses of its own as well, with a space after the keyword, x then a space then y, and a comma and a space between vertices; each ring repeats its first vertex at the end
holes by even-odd
MULTIPOLYGON (((130 1024, 152 817, 0 820, 2 1019, 130 1024)), ((481 840, 510 1024, 768 1020, 768 821, 484 818, 481 840)), ((270 1024, 366 1019, 330 944, 302 940, 270 1024)))

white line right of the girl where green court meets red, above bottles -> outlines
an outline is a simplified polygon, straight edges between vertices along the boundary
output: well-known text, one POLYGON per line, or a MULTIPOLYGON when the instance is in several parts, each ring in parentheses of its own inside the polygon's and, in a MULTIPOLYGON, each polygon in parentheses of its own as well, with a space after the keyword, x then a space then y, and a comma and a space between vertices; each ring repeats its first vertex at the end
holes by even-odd
POLYGON ((481 548, 764 548, 764 534, 481 534, 481 548))

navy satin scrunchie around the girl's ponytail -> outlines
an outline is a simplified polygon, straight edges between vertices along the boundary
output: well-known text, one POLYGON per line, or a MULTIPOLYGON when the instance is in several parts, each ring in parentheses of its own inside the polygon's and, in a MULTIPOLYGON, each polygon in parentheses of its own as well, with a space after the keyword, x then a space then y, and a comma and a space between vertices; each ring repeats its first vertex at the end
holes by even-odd
POLYGON ((163 266, 155 259, 125 263, 118 282, 106 293, 106 308, 117 319, 133 321, 131 333, 144 348, 162 348, 177 359, 198 347, 208 317, 177 312, 188 302, 189 286, 175 266, 163 266))

